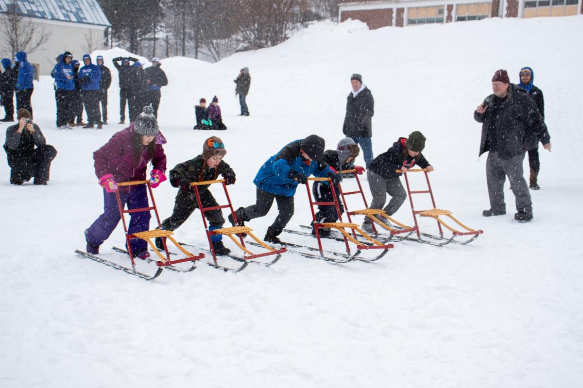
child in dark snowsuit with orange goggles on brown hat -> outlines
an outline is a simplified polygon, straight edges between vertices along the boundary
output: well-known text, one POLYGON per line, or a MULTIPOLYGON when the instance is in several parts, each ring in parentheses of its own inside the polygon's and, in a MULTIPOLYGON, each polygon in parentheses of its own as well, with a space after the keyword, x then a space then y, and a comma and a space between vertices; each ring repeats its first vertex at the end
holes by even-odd
MULTIPOLYGON (((177 164, 170 170, 170 184, 179 190, 172 215, 162 222, 163 230, 176 230, 184 224, 193 211, 198 209, 192 182, 214 181, 219 175, 222 175, 227 185, 235 183, 235 172, 229 164, 222 160, 226 153, 223 140, 220 137, 211 136, 202 144, 202 154, 177 164)), ((209 185, 198 186, 198 193, 203 207, 219 206, 209 190, 209 185)), ((224 218, 221 209, 205 211, 205 217, 209 221, 209 231, 223 227, 224 218)), ((223 245, 222 239, 223 235, 220 234, 210 236, 213 251, 216 255, 229 255, 231 250, 223 245)), ((164 249, 162 238, 156 238, 156 246, 159 249, 164 249)))

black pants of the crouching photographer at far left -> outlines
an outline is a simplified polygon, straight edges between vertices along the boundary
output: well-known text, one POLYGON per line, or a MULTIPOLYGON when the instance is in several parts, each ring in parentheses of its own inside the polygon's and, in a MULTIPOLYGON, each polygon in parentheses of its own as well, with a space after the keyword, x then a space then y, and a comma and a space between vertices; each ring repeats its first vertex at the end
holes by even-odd
POLYGON ((4 146, 8 165, 10 166, 10 182, 48 181, 51 161, 57 156, 55 147, 45 144, 32 152, 20 153, 4 146))

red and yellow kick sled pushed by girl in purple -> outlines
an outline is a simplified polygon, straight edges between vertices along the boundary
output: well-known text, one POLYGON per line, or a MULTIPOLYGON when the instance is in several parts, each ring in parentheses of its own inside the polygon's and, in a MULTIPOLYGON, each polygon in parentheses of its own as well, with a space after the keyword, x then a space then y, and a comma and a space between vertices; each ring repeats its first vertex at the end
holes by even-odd
POLYGON ((78 255, 81 255, 87 259, 95 260, 96 262, 106 264, 107 266, 113 267, 113 268, 118 269, 118 270, 122 270, 125 273, 138 276, 138 277, 143 278, 145 280, 152 280, 152 279, 160 276, 160 274, 162 273, 162 270, 165 268, 169 269, 169 270, 173 270, 173 271, 178 271, 178 272, 189 272, 189 271, 194 270, 196 268, 196 261, 204 258, 205 254, 199 253, 198 255, 192 255, 192 253, 190 253, 186 249, 184 249, 184 247, 182 247, 172 237, 173 233, 171 231, 161 229, 160 216, 158 214, 156 202, 154 201, 152 186, 150 186, 149 180, 129 181, 129 182, 118 183, 119 187, 134 186, 134 185, 146 185, 147 186, 147 192, 149 192, 150 199, 152 200, 152 206, 141 207, 139 209, 127 209, 127 210, 125 210, 124 206, 121 203, 120 192, 119 191, 115 192, 115 196, 117 197, 118 209, 120 210, 121 221, 122 221, 122 224, 124 225, 125 241, 126 241, 127 250, 122 249, 122 248, 118 248, 115 246, 113 247, 113 250, 116 252, 121 252, 121 253, 127 254, 129 256, 129 260, 131 262, 131 268, 125 267, 125 266, 122 266, 121 264, 117 264, 117 263, 111 262, 110 260, 106 260, 104 258, 101 258, 99 255, 92 255, 92 253, 87 253, 85 251, 80 251, 78 249, 75 251, 75 253, 77 253, 78 255), (157 229, 143 231, 143 232, 136 232, 136 233, 129 233, 128 232, 128 225, 125 222, 125 214, 136 213, 138 211, 152 211, 152 210, 154 211, 154 214, 156 214, 156 220, 158 223, 157 229), (154 239, 156 237, 164 237, 164 249, 163 249, 164 255, 162 254, 162 252, 160 252, 160 250, 156 247, 156 244, 154 244, 154 242, 152 241, 152 239, 154 239), (138 260, 143 260, 143 261, 148 262, 148 263, 156 264, 157 270, 156 270, 156 273, 154 273, 153 275, 148 275, 146 273, 143 273, 141 271, 136 270, 134 253, 132 252, 132 247, 130 244, 130 240, 132 238, 139 238, 139 239, 145 240, 147 242, 147 244, 150 246, 151 250, 156 254, 156 256, 157 256, 156 259, 152 259, 152 258, 138 259, 138 260), (168 251, 168 246, 166 245, 166 239, 169 239, 175 246, 177 246, 177 248, 186 257, 182 258, 182 259, 171 260, 170 259, 171 253, 170 253, 170 251, 168 251), (185 268, 177 267, 174 265, 174 264, 185 263, 185 262, 191 262, 192 264, 191 264, 191 266, 185 267, 185 268))

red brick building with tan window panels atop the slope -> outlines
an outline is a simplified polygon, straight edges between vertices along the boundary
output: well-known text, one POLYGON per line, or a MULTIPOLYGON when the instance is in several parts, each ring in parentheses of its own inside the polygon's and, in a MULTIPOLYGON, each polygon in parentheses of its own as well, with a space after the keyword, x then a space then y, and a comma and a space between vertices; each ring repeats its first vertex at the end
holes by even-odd
POLYGON ((486 17, 539 17, 583 14, 583 0, 344 0, 339 20, 358 19, 370 29, 466 22, 486 17))

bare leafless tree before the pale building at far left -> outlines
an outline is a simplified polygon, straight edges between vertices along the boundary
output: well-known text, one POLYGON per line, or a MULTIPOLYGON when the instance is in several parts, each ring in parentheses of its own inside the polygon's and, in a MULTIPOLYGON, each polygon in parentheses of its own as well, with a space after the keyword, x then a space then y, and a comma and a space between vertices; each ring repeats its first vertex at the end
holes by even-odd
POLYGON ((7 3, 6 8, 6 12, 0 14, 0 43, 6 50, 12 55, 19 51, 30 54, 47 43, 51 33, 20 12, 16 0, 7 3))

